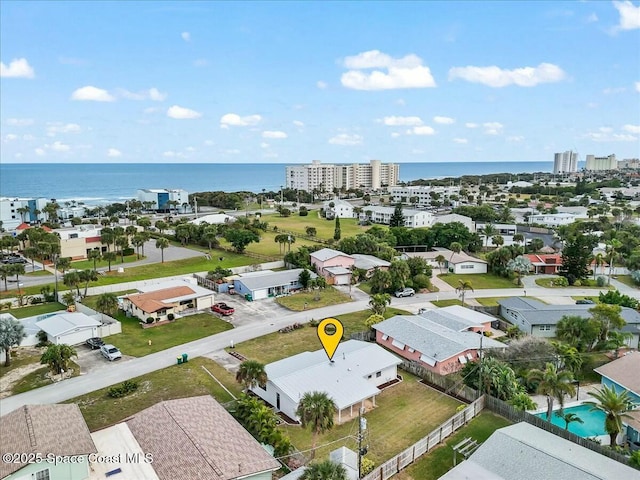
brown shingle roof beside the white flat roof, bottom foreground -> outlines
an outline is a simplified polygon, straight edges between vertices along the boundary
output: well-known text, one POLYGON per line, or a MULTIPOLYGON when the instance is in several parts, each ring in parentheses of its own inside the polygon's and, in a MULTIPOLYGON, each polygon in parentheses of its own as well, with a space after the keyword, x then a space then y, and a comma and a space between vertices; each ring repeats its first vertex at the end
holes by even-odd
POLYGON ((212 397, 158 403, 127 420, 161 480, 230 480, 280 467, 212 397))

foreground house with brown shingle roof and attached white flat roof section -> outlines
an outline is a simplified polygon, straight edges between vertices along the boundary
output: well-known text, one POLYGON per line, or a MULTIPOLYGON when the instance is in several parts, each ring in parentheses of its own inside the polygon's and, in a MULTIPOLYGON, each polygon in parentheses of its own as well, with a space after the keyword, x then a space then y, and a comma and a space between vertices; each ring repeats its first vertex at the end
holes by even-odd
POLYGON ((96 478, 120 469, 113 478, 271 480, 280 468, 209 395, 157 403, 92 436, 99 455, 114 459, 95 466, 96 478))

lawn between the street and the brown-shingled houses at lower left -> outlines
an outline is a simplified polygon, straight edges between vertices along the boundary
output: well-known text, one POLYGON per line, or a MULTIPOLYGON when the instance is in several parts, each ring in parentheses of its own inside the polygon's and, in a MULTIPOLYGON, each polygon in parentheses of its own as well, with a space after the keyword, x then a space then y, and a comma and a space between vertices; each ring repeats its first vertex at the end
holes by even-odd
POLYGON ((139 384, 138 390, 126 397, 111 398, 107 395, 108 388, 103 388, 65 403, 76 403, 89 430, 95 431, 120 422, 163 400, 197 395, 212 395, 220 403, 233 400, 202 366, 215 375, 235 396, 240 394, 241 388, 233 375, 213 360, 200 357, 183 365, 173 365, 133 379, 139 384))

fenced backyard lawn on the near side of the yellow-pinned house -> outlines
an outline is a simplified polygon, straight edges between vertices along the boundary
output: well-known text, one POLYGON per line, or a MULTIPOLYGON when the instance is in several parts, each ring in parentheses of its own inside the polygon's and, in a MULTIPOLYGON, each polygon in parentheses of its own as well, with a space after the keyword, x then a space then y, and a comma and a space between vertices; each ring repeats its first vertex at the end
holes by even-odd
MULTIPOLYGON (((429 388, 413 375, 400 371, 404 381, 384 390, 376 397, 377 407, 366 414, 367 458, 376 466, 400 453, 419 439, 426 436, 438 425, 455 414, 461 403, 451 397, 429 388)), ((344 412, 343 412, 344 414, 344 412)), ((354 415, 357 415, 354 411, 354 415)), ((343 417, 344 420, 344 417, 343 417)), ((358 431, 357 416, 353 420, 336 425, 332 430, 318 437, 318 445, 342 439, 339 443, 321 447, 316 458, 327 458, 330 451, 340 445, 357 451, 354 435, 358 431)), ((311 431, 299 426, 281 427, 291 438, 293 445, 301 451, 311 448, 311 431)))

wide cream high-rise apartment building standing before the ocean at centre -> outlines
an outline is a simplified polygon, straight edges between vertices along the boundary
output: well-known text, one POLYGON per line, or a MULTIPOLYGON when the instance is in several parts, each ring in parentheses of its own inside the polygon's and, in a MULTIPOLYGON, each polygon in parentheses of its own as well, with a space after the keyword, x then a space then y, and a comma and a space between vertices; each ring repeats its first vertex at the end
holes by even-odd
POLYGON ((400 166, 371 160, 369 164, 323 164, 313 160, 310 165, 292 165, 285 169, 285 186, 295 190, 331 192, 334 188, 379 190, 398 183, 400 166))

